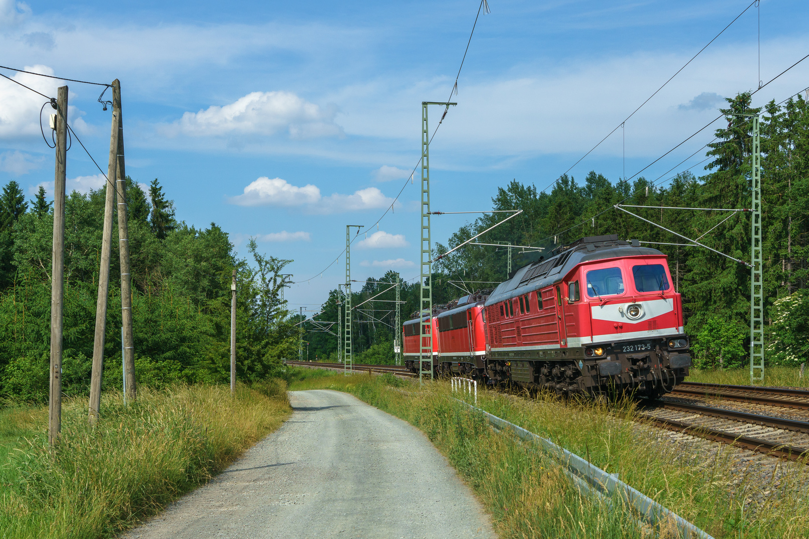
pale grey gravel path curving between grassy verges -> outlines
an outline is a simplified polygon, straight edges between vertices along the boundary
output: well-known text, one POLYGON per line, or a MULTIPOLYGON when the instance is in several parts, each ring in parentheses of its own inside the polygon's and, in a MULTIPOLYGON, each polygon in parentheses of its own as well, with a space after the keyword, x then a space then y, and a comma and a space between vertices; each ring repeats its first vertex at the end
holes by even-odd
POLYGON ((409 423, 337 391, 290 392, 290 402, 294 414, 276 432, 123 537, 496 537, 409 423))

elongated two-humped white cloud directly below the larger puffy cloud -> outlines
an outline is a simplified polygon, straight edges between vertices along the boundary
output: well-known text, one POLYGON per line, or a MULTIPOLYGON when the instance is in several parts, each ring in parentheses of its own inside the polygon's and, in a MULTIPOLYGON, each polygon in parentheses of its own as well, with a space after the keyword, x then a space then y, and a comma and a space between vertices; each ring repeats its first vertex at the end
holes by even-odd
POLYGON ((230 202, 239 206, 303 206, 309 213, 341 213, 387 208, 393 199, 376 187, 360 189, 353 195, 321 196, 320 189, 311 183, 297 187, 286 179, 262 176, 244 187, 244 194, 232 196, 230 202))

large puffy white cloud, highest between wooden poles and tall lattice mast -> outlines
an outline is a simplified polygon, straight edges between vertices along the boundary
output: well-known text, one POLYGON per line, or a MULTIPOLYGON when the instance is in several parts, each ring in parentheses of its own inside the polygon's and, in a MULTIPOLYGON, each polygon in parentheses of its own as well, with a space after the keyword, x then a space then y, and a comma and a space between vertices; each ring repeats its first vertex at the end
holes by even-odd
POLYGON ((168 136, 222 137, 225 135, 273 135, 286 130, 296 139, 341 137, 334 123, 335 107, 321 108, 291 92, 254 91, 234 103, 212 105, 200 112, 185 112, 176 122, 163 126, 168 136))

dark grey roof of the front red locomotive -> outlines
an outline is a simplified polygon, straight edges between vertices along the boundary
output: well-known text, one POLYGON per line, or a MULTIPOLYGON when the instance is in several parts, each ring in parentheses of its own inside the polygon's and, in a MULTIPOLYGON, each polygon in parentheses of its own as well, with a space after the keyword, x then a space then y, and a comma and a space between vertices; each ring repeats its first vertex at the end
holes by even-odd
POLYGON ((637 240, 632 242, 620 240, 617 234, 581 238, 570 246, 563 247, 561 252, 549 259, 519 268, 511 279, 503 281, 498 288, 494 288, 485 305, 493 305, 498 301, 557 283, 580 263, 644 255, 659 256, 663 253, 651 247, 642 247, 637 240))

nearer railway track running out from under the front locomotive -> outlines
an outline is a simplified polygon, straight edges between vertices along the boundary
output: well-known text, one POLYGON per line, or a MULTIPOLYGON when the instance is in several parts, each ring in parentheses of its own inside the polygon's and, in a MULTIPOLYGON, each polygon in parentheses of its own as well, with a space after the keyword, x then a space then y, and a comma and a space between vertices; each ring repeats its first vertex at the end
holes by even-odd
POLYGON ((684 432, 735 447, 809 464, 809 422, 682 402, 653 401, 644 419, 670 431, 684 432))

